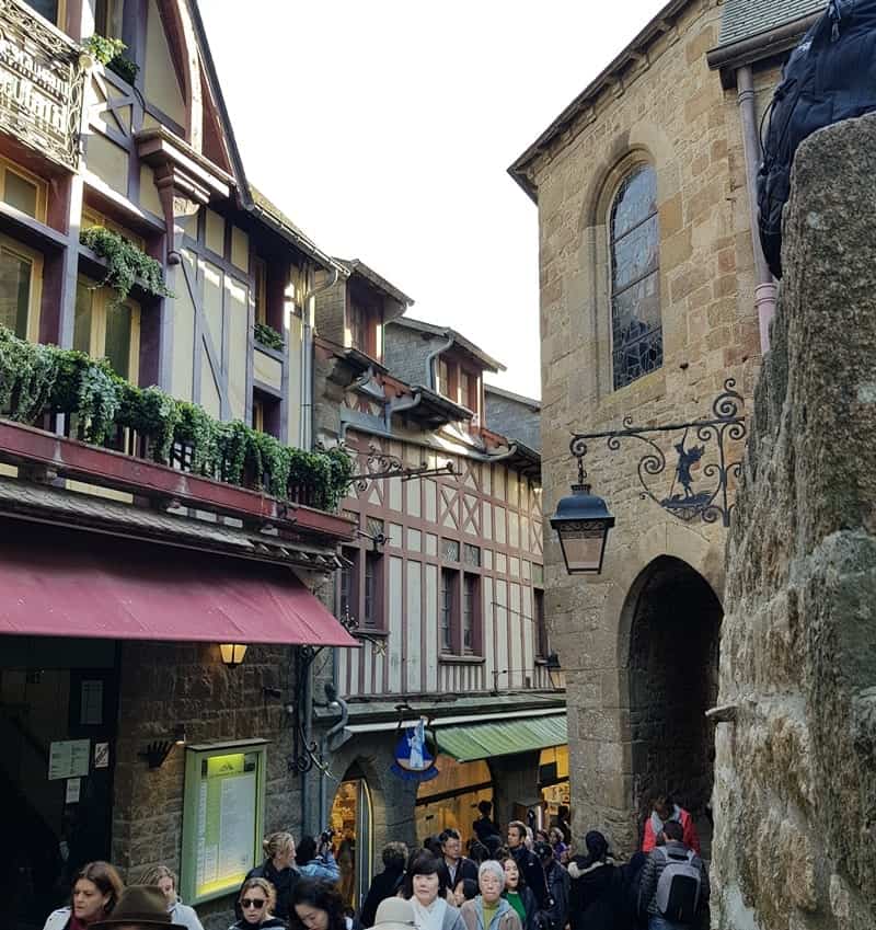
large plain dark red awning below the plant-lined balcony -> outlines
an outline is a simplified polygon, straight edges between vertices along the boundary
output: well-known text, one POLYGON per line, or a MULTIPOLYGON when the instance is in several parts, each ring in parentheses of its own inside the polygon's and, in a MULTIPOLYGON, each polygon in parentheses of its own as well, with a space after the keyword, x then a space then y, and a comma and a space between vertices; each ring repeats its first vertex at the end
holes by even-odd
POLYGON ((356 646, 285 566, 0 524, 0 634, 356 646))

